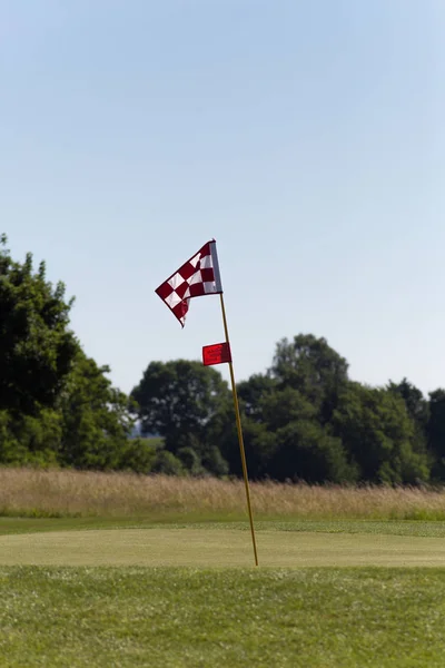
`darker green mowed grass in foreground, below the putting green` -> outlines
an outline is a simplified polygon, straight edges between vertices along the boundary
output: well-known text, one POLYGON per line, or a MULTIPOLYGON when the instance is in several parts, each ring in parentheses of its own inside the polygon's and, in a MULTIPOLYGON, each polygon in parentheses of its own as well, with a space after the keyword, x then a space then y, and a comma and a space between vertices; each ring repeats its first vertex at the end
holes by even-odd
POLYGON ((17 667, 443 668, 445 570, 0 568, 17 667))

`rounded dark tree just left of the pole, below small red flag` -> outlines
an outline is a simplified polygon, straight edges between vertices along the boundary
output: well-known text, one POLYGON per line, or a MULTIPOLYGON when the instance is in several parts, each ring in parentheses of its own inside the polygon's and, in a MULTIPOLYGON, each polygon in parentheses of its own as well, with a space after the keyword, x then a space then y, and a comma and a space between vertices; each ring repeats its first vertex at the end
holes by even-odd
POLYGON ((210 438, 230 395, 215 369, 187 360, 151 362, 131 396, 138 403, 144 433, 164 436, 166 449, 178 456, 181 453, 195 470, 195 454, 202 465, 207 461, 207 470, 217 472, 211 470, 211 462, 220 470, 221 461, 209 452, 216 445, 210 438))

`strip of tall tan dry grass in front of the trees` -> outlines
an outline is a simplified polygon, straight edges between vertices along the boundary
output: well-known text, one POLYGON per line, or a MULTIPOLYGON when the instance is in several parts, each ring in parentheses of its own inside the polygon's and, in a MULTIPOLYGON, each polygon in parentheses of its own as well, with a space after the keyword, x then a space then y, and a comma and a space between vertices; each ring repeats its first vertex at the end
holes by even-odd
MULTIPOLYGON (((250 484, 258 519, 445 519, 445 491, 250 484)), ((244 518, 243 481, 0 469, 0 514, 244 518)))

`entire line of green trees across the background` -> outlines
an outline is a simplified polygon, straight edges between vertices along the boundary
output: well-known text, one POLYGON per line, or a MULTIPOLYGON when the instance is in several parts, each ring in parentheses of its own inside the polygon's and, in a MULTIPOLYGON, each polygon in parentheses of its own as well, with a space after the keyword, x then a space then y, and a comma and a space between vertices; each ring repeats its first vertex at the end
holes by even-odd
MULTIPOLYGON (((69 328, 72 301, 0 237, 0 464, 241 475, 231 392, 216 367, 150 362, 127 396, 69 328), (141 435, 131 438, 135 424, 141 435), (156 436, 156 438, 149 438, 156 436)), ((277 343, 238 384, 251 479, 445 480, 445 390, 348 376, 323 337, 277 343)))

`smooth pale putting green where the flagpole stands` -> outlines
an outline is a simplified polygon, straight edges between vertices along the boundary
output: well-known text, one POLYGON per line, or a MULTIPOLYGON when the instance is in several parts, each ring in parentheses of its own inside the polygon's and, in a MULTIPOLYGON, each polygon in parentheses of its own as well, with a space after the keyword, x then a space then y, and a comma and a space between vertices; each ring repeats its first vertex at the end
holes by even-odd
MULTIPOLYGON (((445 539, 258 531, 264 567, 444 567, 445 539)), ((0 537, 1 566, 238 567, 254 562, 250 533, 206 529, 115 529, 0 537)))

